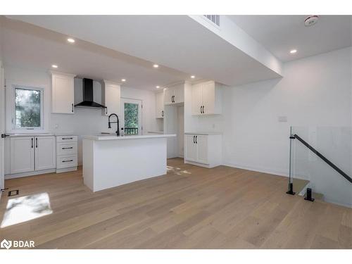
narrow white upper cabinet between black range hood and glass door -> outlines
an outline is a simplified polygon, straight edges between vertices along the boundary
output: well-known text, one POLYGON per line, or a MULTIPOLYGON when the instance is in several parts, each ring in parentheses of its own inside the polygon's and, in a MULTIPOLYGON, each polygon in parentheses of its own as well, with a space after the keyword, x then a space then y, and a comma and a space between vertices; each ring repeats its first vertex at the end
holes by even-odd
POLYGON ((112 113, 120 115, 120 83, 104 80, 101 91, 101 101, 106 106, 103 110, 103 115, 111 115, 112 113))

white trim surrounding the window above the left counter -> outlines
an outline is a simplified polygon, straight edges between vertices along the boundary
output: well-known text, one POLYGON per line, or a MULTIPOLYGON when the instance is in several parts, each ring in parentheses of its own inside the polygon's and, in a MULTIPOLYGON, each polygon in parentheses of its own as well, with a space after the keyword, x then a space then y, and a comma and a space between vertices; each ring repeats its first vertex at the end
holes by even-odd
POLYGON ((13 132, 44 132, 44 88, 42 87, 32 87, 24 85, 12 85, 12 102, 13 102, 13 111, 12 111, 12 131, 13 132), (16 127, 15 118, 16 118, 16 90, 15 89, 24 89, 24 90, 35 90, 40 92, 40 127, 16 127))

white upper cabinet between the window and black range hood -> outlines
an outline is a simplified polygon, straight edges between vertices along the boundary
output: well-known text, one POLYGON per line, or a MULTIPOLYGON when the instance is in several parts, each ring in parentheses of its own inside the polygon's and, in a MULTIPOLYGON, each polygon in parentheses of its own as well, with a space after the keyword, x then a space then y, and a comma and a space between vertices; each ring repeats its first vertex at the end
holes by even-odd
POLYGON ((74 77, 75 75, 71 74, 51 72, 52 113, 75 113, 74 77))

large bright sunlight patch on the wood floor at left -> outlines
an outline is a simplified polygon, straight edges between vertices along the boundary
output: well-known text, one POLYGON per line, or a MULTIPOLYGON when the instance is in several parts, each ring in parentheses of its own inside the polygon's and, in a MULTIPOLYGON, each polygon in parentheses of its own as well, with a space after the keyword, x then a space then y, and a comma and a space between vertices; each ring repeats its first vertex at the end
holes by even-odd
POLYGON ((49 194, 33 194, 8 200, 1 228, 53 213, 49 194))

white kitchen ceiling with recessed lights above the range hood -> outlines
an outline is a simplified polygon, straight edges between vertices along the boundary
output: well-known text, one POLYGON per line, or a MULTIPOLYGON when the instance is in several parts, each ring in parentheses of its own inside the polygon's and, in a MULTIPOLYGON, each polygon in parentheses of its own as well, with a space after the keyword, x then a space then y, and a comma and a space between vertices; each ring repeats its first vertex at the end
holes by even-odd
POLYGON ((138 89, 157 90, 172 82, 189 80, 188 73, 171 68, 153 68, 145 61, 118 51, 76 39, 68 44, 67 36, 20 21, 1 20, 1 46, 4 63, 34 70, 57 70, 94 80, 111 80, 138 89), (51 68, 58 65, 57 69, 51 68))

